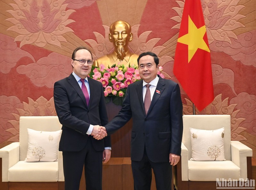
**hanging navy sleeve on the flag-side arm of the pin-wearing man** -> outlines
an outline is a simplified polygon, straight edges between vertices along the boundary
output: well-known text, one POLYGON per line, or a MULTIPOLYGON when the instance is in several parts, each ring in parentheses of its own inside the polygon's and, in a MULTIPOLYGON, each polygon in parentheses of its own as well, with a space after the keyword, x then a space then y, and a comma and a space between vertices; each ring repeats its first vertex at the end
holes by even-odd
POLYGON ((180 87, 175 85, 171 95, 170 101, 170 114, 171 114, 171 149, 170 153, 181 154, 181 141, 183 133, 183 120, 182 120, 182 101, 180 97, 180 87))

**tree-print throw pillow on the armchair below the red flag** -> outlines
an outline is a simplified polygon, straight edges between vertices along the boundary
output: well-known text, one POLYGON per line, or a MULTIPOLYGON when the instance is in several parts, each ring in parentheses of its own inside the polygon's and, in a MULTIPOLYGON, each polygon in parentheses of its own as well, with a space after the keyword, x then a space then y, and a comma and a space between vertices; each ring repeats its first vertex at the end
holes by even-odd
POLYGON ((193 161, 223 161, 224 127, 215 130, 190 129, 193 161))

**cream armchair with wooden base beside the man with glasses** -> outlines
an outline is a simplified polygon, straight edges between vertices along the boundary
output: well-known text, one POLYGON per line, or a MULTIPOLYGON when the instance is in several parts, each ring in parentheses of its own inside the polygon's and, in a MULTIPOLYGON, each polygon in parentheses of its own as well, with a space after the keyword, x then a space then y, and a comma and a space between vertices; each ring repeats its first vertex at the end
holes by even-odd
POLYGON ((60 189, 64 186, 62 152, 55 162, 25 162, 28 151, 27 128, 36 131, 58 131, 61 124, 57 116, 20 117, 20 142, 0 149, 0 189, 60 189), (27 188, 26 188, 27 187, 27 188))

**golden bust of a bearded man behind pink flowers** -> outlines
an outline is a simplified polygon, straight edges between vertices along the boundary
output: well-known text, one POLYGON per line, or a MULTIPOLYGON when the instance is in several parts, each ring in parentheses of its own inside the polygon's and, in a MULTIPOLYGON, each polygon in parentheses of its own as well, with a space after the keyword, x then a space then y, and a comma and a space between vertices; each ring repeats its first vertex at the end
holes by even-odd
POLYGON ((137 64, 137 54, 133 54, 128 43, 132 41, 133 34, 131 26, 125 21, 118 20, 109 27, 108 39, 114 45, 114 51, 108 55, 98 58, 94 61, 94 65, 99 67, 103 64, 106 68, 121 62, 124 66, 137 64))

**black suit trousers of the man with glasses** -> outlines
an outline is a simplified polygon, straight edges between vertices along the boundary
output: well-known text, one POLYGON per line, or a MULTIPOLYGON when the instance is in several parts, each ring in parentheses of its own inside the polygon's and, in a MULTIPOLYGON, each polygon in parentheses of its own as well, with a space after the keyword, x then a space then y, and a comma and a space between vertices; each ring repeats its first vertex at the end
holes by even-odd
POLYGON ((83 166, 86 190, 102 190, 102 151, 92 147, 92 138, 81 151, 63 151, 65 190, 79 190, 83 166))

